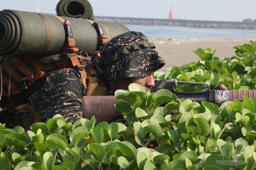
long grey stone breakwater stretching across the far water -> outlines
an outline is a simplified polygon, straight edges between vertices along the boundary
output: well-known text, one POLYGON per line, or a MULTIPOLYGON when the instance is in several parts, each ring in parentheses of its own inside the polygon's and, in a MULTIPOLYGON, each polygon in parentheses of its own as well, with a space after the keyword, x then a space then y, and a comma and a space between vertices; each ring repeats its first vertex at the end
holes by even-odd
POLYGON ((251 29, 256 30, 256 23, 224 22, 224 21, 200 21, 200 20, 169 20, 129 17, 99 17, 95 20, 119 24, 134 25, 159 25, 159 26, 184 26, 194 28, 221 28, 221 29, 251 29))

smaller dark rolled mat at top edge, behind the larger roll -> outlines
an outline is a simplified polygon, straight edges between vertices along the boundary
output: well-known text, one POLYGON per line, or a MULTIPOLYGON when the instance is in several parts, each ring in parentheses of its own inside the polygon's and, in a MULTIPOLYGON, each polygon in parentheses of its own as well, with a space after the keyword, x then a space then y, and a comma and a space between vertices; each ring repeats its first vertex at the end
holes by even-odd
POLYGON ((94 20, 93 8, 87 0, 60 0, 56 6, 56 13, 62 17, 94 20))

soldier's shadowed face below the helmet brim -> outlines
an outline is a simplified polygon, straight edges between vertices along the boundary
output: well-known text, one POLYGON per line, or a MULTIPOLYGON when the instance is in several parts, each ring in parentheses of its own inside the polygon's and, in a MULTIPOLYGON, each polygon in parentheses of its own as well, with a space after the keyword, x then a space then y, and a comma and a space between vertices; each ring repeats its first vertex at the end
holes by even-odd
MULTIPOLYGON (((153 73, 143 77, 125 78, 125 79, 122 79, 120 82, 114 82, 114 85, 111 85, 111 86, 115 86, 113 88, 115 90, 117 89, 128 90, 128 86, 131 83, 137 83, 141 85, 145 89, 145 91, 150 91, 150 89, 154 87, 153 73)), ((112 90, 112 91, 115 91, 115 90, 112 90)))

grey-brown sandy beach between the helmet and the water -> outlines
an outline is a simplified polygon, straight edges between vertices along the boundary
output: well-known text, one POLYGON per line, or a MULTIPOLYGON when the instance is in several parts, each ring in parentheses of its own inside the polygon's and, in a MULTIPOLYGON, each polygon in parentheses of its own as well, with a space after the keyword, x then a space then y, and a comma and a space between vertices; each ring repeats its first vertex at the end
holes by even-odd
POLYGON ((190 62, 198 62, 200 58, 193 52, 198 48, 216 49, 215 57, 235 56, 234 46, 256 41, 256 38, 243 39, 150 39, 156 45, 155 50, 163 57, 166 65, 161 69, 181 66, 190 62))

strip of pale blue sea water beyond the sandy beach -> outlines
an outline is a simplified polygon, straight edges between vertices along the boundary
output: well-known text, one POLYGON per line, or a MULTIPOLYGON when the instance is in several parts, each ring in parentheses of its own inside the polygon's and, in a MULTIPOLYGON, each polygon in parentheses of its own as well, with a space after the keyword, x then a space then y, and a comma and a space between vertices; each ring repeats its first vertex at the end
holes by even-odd
POLYGON ((139 31, 148 38, 256 38, 256 30, 192 28, 181 26, 128 25, 130 31, 139 31))

